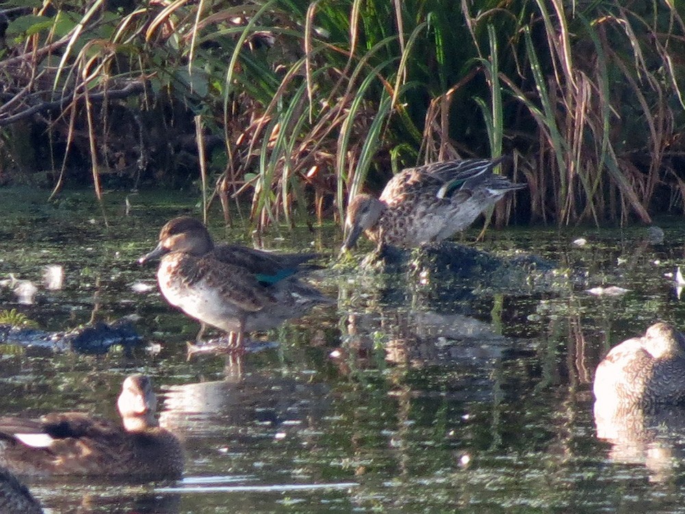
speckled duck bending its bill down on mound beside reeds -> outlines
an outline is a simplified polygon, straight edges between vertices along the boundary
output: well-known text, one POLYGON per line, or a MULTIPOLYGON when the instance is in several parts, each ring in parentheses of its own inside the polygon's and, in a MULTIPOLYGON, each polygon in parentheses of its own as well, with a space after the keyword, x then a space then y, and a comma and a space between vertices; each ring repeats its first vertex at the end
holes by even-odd
POLYGON ((375 243, 417 247, 464 230, 508 191, 526 186, 493 173, 504 159, 450 160, 405 169, 390 179, 379 198, 356 195, 347 206, 343 249, 353 247, 362 232, 375 243))

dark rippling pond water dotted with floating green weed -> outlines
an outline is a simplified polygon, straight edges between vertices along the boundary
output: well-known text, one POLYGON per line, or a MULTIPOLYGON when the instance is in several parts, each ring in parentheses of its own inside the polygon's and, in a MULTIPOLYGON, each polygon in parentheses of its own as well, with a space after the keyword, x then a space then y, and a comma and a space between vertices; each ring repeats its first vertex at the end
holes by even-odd
MULTIPOLYGON (((634 419, 610 443, 597 437, 590 391, 612 345, 657 319, 685 328, 664 278, 685 263, 675 220, 664 220, 659 245, 643 243, 643 228, 490 231, 477 244, 477 231, 466 234, 466 244, 497 255, 555 260, 571 280, 547 288, 483 279, 464 293, 432 277, 407 284, 329 266, 315 280, 338 303, 258 334, 277 347, 232 363, 186 358, 197 323, 164 302, 152 267, 136 264, 166 219, 194 211, 194 199, 133 195, 125 215, 125 195, 111 194, 105 227, 90 192, 56 206, 40 193, 1 194, 9 207, 0 280, 13 273, 39 289, 23 305, 1 288, 0 310, 50 331, 136 315, 145 344, 106 356, 1 346, 0 415, 116 419, 121 380, 143 371, 163 400, 162 424, 186 445, 179 482, 27 480, 51 512, 685 511, 684 416, 634 419), (588 242, 577 247, 581 236, 588 242), (62 289, 40 286, 46 265, 62 265, 62 289), (630 291, 585 292, 595 286, 630 291)), ((251 243, 218 216, 212 233, 251 243)), ((263 243, 313 248, 329 265, 339 238, 332 228, 284 230, 263 243)))

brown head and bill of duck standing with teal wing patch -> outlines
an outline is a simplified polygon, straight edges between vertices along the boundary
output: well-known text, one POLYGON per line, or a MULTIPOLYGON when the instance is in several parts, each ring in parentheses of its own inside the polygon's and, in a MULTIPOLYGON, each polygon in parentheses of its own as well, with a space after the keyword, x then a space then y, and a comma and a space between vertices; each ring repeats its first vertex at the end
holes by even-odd
POLYGON ((201 221, 188 216, 174 218, 160 231, 160 242, 149 254, 138 259, 140 264, 158 259, 169 252, 186 252, 202 256, 214 248, 210 233, 201 221))

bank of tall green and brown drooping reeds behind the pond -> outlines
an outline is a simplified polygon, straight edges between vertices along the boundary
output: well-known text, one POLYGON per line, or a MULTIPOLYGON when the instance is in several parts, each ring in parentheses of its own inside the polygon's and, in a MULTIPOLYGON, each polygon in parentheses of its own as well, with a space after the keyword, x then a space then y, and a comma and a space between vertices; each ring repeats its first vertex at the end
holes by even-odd
POLYGON ((2 5, 0 182, 197 181, 262 227, 340 217, 402 167, 511 154, 521 220, 685 211, 673 1, 2 5))

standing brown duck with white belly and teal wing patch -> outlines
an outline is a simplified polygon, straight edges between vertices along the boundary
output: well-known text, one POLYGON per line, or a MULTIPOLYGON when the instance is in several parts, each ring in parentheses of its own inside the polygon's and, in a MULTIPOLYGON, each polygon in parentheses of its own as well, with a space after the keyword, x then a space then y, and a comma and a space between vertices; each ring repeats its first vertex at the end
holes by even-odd
POLYGON ((178 217, 162 227, 159 244, 139 262, 161 257, 157 279, 166 301, 202 328, 225 330, 227 346, 240 348, 245 332, 274 328, 315 304, 332 302, 297 277, 312 268, 306 262, 315 256, 214 245, 203 223, 178 217))

